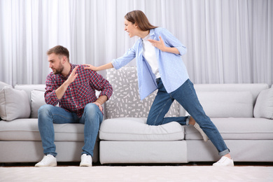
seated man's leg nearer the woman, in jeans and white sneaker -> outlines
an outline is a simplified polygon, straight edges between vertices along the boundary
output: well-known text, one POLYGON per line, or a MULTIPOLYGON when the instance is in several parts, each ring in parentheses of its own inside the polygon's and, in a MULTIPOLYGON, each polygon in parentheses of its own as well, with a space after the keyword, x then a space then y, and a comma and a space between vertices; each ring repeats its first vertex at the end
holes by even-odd
MULTIPOLYGON (((85 106, 83 116, 80 118, 80 123, 85 124, 84 137, 85 145, 83 146, 83 155, 94 155, 94 144, 97 140, 97 134, 99 132, 99 125, 102 123, 103 115, 102 111, 99 110, 99 107, 96 104, 87 104, 85 106)), ((91 157, 88 157, 88 160, 92 160, 91 157)), ((90 166, 84 165, 86 161, 83 161, 80 166, 90 166)), ((88 162, 87 162, 88 163, 88 162)), ((92 162, 91 162, 92 165, 92 162)))

